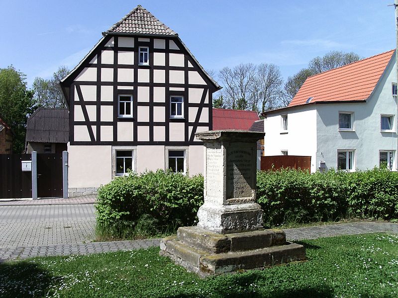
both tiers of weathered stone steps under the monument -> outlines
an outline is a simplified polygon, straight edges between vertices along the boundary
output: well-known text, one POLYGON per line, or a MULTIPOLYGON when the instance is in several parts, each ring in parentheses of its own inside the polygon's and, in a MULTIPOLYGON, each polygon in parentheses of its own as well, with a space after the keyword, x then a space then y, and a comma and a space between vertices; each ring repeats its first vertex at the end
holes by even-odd
POLYGON ((189 226, 180 227, 177 237, 162 239, 160 255, 207 277, 305 260, 305 249, 286 242, 281 230, 220 234, 189 226))

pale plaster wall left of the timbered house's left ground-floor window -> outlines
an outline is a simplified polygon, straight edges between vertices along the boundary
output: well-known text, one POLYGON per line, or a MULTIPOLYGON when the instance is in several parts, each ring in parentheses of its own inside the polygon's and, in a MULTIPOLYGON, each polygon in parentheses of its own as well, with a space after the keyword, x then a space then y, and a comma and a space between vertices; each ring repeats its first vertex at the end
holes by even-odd
POLYGON ((68 144, 70 188, 99 187, 112 179, 111 146, 71 146, 68 144))

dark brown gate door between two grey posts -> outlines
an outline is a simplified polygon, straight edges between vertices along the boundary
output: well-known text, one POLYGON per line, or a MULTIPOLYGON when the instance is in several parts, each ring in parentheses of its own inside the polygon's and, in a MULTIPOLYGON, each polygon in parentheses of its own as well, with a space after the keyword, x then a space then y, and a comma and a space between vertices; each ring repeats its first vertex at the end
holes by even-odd
POLYGON ((62 152, 37 154, 37 197, 62 196, 62 152))

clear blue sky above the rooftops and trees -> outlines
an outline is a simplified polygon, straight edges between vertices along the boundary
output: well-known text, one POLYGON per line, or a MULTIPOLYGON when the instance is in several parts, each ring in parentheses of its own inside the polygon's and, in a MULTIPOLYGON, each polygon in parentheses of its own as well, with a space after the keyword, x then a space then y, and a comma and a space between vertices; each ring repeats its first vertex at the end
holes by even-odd
POLYGON ((274 63, 284 79, 332 50, 373 56, 395 47, 394 0, 0 0, 0 68, 50 78, 141 4, 179 33, 205 69, 274 63))

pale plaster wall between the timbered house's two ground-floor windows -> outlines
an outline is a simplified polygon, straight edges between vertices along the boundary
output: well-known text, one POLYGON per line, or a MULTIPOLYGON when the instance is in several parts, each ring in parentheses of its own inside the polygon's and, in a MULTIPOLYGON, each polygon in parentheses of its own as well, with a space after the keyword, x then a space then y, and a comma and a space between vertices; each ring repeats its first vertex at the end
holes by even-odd
POLYGON ((165 169, 165 147, 164 146, 137 146, 137 169, 138 173, 145 170, 156 171, 165 169))

